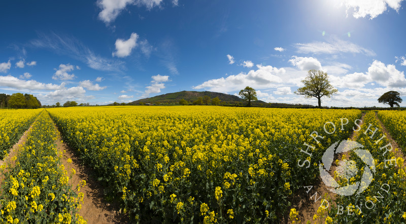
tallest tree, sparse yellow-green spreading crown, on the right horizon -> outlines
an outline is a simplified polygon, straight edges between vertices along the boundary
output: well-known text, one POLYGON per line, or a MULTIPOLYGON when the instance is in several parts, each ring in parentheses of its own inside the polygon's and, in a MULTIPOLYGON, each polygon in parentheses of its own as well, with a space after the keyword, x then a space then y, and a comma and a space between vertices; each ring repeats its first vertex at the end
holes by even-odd
POLYGON ((320 70, 309 70, 308 76, 301 81, 304 86, 297 89, 294 93, 304 95, 306 98, 316 97, 319 107, 321 107, 321 97, 331 97, 338 90, 331 86, 328 81, 328 74, 320 70))

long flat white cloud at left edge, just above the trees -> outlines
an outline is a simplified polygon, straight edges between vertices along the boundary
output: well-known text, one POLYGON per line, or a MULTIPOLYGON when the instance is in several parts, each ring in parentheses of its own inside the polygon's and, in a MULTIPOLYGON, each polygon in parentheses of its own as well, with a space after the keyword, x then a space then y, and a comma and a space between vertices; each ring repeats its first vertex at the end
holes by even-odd
POLYGON ((64 87, 64 83, 61 85, 44 84, 35 80, 20 80, 13 76, 0 76, 0 86, 10 87, 18 90, 57 90, 64 87))

